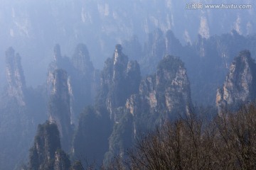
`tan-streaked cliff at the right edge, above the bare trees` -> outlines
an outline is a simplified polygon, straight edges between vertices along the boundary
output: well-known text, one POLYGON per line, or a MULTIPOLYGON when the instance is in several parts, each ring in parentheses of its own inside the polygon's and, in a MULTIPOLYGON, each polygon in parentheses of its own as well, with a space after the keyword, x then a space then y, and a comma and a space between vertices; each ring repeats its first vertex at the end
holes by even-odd
POLYGON ((216 95, 218 111, 223 108, 237 108, 242 103, 255 100, 256 64, 250 52, 244 50, 230 65, 229 73, 223 87, 219 88, 216 95))

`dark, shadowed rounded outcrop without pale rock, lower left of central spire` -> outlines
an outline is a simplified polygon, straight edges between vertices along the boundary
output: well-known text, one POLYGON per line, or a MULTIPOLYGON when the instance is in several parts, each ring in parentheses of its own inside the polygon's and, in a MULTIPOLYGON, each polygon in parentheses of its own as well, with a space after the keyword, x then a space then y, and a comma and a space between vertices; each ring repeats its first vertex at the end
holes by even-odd
POLYGON ((82 164, 94 162, 100 169, 112 131, 112 122, 105 109, 87 106, 80 114, 78 129, 73 137, 73 157, 81 159, 82 164), (82 155, 81 155, 82 154, 82 155))

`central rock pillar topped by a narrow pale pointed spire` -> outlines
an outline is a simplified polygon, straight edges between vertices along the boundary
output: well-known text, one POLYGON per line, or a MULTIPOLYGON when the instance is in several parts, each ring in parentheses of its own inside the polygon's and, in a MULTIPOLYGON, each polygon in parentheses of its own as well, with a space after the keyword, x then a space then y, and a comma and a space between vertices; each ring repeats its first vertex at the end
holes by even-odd
POLYGON ((102 71, 97 104, 105 105, 110 111, 110 118, 117 120, 117 108, 124 106, 127 98, 139 91, 140 80, 139 64, 129 61, 122 53, 122 46, 116 45, 114 56, 107 59, 102 71))

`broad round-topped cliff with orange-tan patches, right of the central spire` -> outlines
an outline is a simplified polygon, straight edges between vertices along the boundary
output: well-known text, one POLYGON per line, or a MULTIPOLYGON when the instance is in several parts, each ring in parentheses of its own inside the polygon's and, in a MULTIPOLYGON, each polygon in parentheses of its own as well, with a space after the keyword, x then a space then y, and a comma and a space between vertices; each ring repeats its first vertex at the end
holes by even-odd
POLYGON ((156 74, 142 79, 138 93, 127 99, 124 108, 119 108, 122 117, 114 124, 104 165, 107 166, 116 155, 125 157, 124 150, 132 146, 137 132, 151 130, 166 120, 189 114, 191 105, 184 64, 177 57, 166 55, 156 74))

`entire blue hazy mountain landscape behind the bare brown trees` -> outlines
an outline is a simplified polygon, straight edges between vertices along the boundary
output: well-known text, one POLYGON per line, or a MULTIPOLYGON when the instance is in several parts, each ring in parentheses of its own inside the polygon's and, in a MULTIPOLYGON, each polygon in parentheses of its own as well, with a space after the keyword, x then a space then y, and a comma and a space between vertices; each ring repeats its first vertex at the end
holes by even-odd
POLYGON ((107 167, 139 132, 254 101, 254 5, 1 1, 0 166, 107 167))

